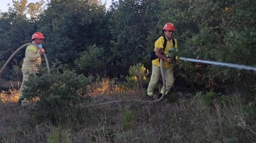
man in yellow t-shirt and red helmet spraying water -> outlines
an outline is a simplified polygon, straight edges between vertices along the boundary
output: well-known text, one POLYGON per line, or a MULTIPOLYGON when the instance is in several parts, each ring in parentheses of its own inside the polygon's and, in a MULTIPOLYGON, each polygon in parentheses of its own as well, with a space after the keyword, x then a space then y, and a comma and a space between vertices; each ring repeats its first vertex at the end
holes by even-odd
MULTIPOLYGON (((172 23, 166 23, 164 25, 164 28, 162 29, 162 32, 164 33, 164 36, 161 36, 155 41, 155 55, 157 55, 157 59, 152 60, 152 75, 150 78, 150 82, 148 84, 147 88, 147 100, 152 100, 153 96, 153 90, 156 88, 157 83, 159 82, 159 78, 161 75, 160 70, 160 59, 163 60, 163 70, 164 70, 164 76, 166 81, 166 92, 167 93, 174 83, 174 77, 173 77, 173 66, 172 61, 174 60, 173 57, 169 58, 166 57, 166 55, 169 54, 169 51, 177 49, 177 40, 173 38, 173 34, 175 31, 175 27, 172 23), (164 42, 166 40, 166 47, 164 48, 164 42), (174 44, 175 43, 175 44, 174 44)), ((163 88, 161 89, 160 93, 158 94, 158 99, 162 96, 164 93, 163 88)))

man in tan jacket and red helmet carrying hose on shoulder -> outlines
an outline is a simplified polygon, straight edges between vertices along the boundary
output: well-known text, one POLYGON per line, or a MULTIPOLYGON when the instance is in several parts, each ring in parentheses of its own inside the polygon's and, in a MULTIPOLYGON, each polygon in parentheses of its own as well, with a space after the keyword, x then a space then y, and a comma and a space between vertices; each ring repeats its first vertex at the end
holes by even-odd
MULTIPOLYGON (((41 45, 43 43, 43 34, 40 32, 35 32, 32 35, 33 40, 32 43, 37 45, 41 45)), ((22 64, 22 75, 23 75, 23 82, 20 87, 19 92, 19 105, 21 107, 26 107, 29 101, 23 97, 22 90, 24 89, 25 85, 24 82, 28 80, 30 75, 36 75, 38 66, 41 64, 41 55, 44 53, 44 49, 41 48, 40 50, 35 45, 28 45, 26 48, 25 58, 23 59, 22 64)))

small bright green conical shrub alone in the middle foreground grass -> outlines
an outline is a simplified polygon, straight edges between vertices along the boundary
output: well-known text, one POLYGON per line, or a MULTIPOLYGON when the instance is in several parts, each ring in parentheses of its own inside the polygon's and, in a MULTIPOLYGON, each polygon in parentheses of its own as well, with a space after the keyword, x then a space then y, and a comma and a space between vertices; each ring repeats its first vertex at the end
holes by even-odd
POLYGON ((124 114, 123 114, 123 129, 128 130, 132 129, 135 126, 135 115, 129 109, 129 107, 124 107, 124 114))

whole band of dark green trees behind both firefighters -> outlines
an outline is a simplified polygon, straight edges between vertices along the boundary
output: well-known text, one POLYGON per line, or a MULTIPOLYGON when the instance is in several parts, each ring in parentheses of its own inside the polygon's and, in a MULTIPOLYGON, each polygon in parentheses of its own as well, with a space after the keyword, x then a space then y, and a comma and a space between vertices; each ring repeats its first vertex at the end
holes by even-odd
MULTIPOLYGON (((181 57, 256 66, 253 0, 119 0, 108 10, 99 0, 51 0, 44 10, 43 1, 13 3, 0 13, 0 67, 40 31, 47 37, 43 48, 50 63, 58 60, 78 74, 127 75, 138 62, 150 69, 147 53, 167 22, 177 29, 181 57)), ((23 57, 21 51, 16 59, 23 57)), ((255 73, 245 70, 179 61, 175 76, 197 88, 224 89, 232 83, 256 89, 255 73)))

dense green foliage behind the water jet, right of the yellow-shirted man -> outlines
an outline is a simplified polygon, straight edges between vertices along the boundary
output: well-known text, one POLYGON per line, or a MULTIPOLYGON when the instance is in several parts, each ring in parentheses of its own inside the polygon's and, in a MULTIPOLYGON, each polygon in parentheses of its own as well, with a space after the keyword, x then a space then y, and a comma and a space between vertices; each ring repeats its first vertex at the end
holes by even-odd
MULTIPOLYGON (((177 32, 179 56, 255 66, 255 9, 252 1, 168 1, 160 3, 155 31, 172 22, 177 32), (248 13, 248 10, 251 13, 248 13), (189 26, 188 26, 189 25, 189 26)), ((148 43, 154 41, 152 32, 148 43)), ((196 89, 255 92, 255 73, 200 63, 179 62, 175 79, 196 89), (252 77, 252 78, 251 78, 252 77), (181 81, 181 80, 180 80, 181 81), (244 81, 247 81, 246 83, 244 81), (246 88, 249 87, 250 88, 246 88)), ((182 84, 182 83, 180 83, 182 84)), ((252 98, 251 98, 252 99, 252 98)))

